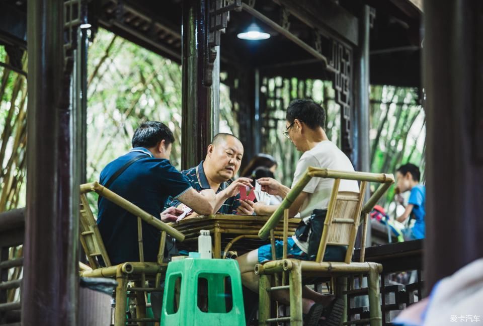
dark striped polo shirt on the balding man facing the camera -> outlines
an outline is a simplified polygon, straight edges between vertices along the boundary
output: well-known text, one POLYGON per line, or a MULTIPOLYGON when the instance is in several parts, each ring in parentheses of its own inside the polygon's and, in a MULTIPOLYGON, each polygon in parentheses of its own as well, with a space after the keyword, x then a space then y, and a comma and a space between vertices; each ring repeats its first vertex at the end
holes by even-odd
MULTIPOLYGON (((203 169, 203 162, 204 161, 201 161, 201 163, 196 167, 181 171, 181 173, 188 179, 191 186, 197 191, 202 191, 204 189, 211 188, 210 184, 208 183, 208 179, 206 178, 205 170, 203 169)), ((216 193, 219 193, 220 191, 224 190, 231 183, 232 183, 231 179, 223 182, 218 188, 218 190, 216 191, 216 193)), ((171 206, 177 207, 179 204, 180 204, 180 201, 176 200, 176 198, 170 197, 166 202, 165 208, 168 208, 171 206)), ((240 206, 239 194, 225 200, 223 205, 221 205, 220 209, 218 209, 217 213, 218 214, 236 214, 236 209, 238 208, 238 206, 240 206)))

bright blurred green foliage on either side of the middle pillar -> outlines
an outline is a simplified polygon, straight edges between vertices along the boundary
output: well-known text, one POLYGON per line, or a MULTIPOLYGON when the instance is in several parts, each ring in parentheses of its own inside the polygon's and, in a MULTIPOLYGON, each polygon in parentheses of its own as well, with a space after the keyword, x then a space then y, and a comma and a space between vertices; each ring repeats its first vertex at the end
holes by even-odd
MULTIPOLYGON (((146 120, 173 131, 171 161, 180 168, 181 66, 100 29, 89 48, 88 75, 88 180, 99 180, 101 170, 131 148, 134 130, 146 120)), ((228 94, 220 87, 220 125, 236 132, 228 94)))

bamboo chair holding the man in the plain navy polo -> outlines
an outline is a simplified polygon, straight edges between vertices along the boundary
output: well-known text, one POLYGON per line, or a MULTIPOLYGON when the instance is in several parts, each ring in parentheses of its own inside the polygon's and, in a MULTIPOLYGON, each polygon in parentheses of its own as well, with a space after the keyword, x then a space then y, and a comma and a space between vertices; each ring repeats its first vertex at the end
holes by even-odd
MULTIPOLYGON (((154 321, 146 316, 146 303, 144 293, 155 291, 159 288, 162 273, 166 272, 168 264, 163 262, 164 250, 166 243, 166 234, 170 234, 178 241, 183 241, 185 236, 173 227, 160 221, 158 218, 143 211, 136 205, 115 194, 109 189, 103 187, 98 182, 81 185, 81 214, 79 221, 79 237, 82 247, 87 255, 92 270, 86 266, 81 268, 79 274, 82 277, 107 277, 115 278, 118 282, 116 288, 116 308, 114 325, 125 325, 126 322, 138 322, 144 325, 147 321, 154 321), (129 213, 137 216, 138 241, 139 241, 139 262, 125 262, 116 266, 112 266, 107 255, 104 242, 97 227, 96 220, 92 214, 91 208, 87 200, 87 193, 95 191, 99 196, 103 196, 116 205, 124 208, 129 213), (142 243, 142 227, 141 221, 148 223, 162 231, 159 242, 159 251, 157 262, 144 262, 143 243, 142 243), (155 277, 155 287, 146 287, 146 275, 155 277), (127 301, 127 285, 128 282, 134 281, 135 287, 131 287, 129 291, 135 293, 136 296, 136 318, 126 319, 126 301, 127 301)), ((157 320, 159 321, 159 320, 157 320)))

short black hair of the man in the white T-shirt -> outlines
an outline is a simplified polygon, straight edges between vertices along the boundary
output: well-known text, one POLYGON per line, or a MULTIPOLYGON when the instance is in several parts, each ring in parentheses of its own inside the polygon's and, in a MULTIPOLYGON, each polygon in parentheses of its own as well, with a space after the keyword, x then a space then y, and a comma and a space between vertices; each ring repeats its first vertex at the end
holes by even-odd
POLYGON ((292 123, 295 119, 305 123, 310 129, 324 128, 326 111, 311 99, 299 99, 290 102, 285 119, 292 123))

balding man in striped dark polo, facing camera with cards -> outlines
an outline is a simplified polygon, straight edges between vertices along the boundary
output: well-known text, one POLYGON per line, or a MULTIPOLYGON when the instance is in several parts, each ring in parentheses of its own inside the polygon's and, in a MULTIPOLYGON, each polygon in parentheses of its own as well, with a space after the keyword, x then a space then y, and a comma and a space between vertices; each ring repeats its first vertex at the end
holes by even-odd
MULTIPOLYGON (((251 187, 251 179, 232 178, 240 168, 243 158, 243 144, 235 136, 219 133, 213 137, 205 160, 196 167, 181 171, 190 181, 191 186, 197 190, 213 189, 216 193, 216 202, 213 214, 239 214, 252 215, 254 202, 240 200, 239 186, 251 187)), ((176 206, 181 203, 170 198, 165 207, 176 206)))

